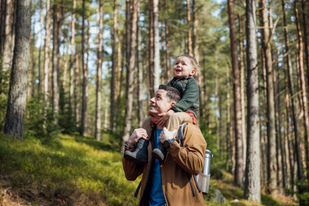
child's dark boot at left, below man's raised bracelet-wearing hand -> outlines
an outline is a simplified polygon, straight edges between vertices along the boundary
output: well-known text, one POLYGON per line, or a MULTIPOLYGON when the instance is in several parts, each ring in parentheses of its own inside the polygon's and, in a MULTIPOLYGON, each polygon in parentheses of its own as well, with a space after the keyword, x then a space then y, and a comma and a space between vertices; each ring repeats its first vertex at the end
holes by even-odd
POLYGON ((148 160, 148 152, 147 152, 148 142, 149 140, 140 138, 136 142, 135 150, 125 151, 123 154, 123 157, 130 162, 137 162, 140 164, 146 163, 148 160))

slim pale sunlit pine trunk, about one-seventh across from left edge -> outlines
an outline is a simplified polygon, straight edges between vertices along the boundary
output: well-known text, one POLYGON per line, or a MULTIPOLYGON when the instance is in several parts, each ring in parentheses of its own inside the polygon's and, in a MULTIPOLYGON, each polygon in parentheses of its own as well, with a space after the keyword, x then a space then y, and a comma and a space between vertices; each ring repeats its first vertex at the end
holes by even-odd
MULTIPOLYGON (((45 49, 44 49, 44 100, 48 102, 48 79, 49 79, 49 46, 50 46, 50 0, 46 0, 46 23, 45 23, 45 49)), ((46 108, 46 110, 47 110, 46 108)))

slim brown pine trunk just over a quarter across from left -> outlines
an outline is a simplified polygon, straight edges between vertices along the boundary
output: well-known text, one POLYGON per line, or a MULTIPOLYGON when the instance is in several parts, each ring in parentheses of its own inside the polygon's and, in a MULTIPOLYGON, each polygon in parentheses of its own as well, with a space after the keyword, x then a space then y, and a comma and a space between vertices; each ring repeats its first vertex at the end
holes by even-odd
POLYGON ((83 70, 83 93, 82 93, 82 111, 81 111, 81 125, 80 125, 80 135, 84 135, 86 117, 87 117, 87 101, 88 101, 88 69, 85 65, 85 0, 82 4, 83 15, 82 15, 82 70, 83 70))

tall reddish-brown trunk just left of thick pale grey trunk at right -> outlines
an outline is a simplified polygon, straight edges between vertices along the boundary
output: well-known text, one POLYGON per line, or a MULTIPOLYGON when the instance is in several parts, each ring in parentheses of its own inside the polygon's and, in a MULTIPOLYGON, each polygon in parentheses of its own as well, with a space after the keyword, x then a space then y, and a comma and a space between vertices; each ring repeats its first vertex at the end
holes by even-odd
POLYGON ((241 97, 240 97, 240 79, 237 60, 236 45, 236 26, 234 19, 234 1, 228 0, 228 13, 230 25, 230 42, 231 42, 231 60, 233 69, 233 97, 234 97, 234 122, 235 122, 235 146, 236 146, 236 165, 234 182, 236 185, 243 187, 243 142, 242 142, 242 124, 241 124, 241 97))

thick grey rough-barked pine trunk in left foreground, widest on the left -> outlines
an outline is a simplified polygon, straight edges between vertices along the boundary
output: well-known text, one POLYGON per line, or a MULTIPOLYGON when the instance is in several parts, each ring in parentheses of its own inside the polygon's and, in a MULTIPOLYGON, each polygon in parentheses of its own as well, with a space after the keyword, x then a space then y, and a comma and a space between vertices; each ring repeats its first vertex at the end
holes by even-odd
POLYGON ((31 1, 17 1, 16 34, 4 133, 23 139, 30 58, 31 1))

